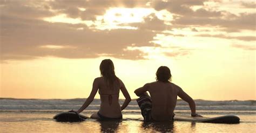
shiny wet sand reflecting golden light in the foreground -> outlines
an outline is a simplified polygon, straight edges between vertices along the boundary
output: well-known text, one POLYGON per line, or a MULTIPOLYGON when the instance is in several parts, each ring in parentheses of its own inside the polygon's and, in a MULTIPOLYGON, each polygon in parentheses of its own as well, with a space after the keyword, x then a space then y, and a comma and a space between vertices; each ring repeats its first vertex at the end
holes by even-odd
MULTIPOLYGON (((0 113, 1 132, 255 132, 256 116, 239 115, 239 124, 143 122, 140 114, 124 114, 123 121, 56 122, 53 113, 0 113)), ((86 114, 89 115, 89 114, 86 114)), ((215 115, 206 115, 215 116, 215 115)))

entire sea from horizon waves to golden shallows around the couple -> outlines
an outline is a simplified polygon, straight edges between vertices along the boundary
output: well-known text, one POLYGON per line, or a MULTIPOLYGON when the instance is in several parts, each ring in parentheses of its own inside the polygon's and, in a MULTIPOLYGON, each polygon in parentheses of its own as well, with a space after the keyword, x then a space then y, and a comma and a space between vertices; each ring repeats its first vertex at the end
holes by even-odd
MULTIPOLYGON (((207 117, 237 115, 239 124, 194 122, 143 122, 136 100, 123 110, 123 121, 56 122, 52 117, 60 112, 78 109, 86 99, 12 99, 0 98, 0 132, 256 132, 256 101, 195 100, 197 113, 207 117)), ((124 100, 119 100, 120 105, 124 100)), ((99 109, 94 99, 83 114, 90 116, 99 109)), ((183 100, 177 101, 176 114, 190 115, 183 100)))

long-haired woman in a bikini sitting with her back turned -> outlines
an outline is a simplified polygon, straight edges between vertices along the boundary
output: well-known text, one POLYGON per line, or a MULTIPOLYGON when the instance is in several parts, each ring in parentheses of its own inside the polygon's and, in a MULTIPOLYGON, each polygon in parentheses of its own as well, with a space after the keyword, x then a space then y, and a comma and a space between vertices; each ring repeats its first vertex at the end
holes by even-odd
POLYGON ((100 74, 102 77, 98 77, 94 80, 92 85, 92 91, 89 97, 76 112, 82 112, 93 101, 95 94, 99 90, 100 94, 100 109, 97 113, 91 115, 91 118, 100 120, 112 120, 122 119, 122 110, 127 107, 131 101, 130 95, 127 92, 124 83, 114 74, 114 64, 111 60, 106 59, 100 63, 100 74), (120 107, 119 90, 122 91, 125 97, 124 104, 120 107))

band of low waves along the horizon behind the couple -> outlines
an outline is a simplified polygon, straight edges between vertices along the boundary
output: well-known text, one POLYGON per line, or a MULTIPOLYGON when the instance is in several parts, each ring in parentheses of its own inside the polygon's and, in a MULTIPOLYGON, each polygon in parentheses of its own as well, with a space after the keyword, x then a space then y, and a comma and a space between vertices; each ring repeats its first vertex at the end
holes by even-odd
MULTIPOLYGON (((1 110, 71 110, 78 109, 83 105, 86 99, 14 99, 0 98, 1 110)), ((120 105, 124 102, 119 100, 120 105)), ((256 110, 256 100, 227 100, 227 101, 210 101, 210 100, 195 100, 197 110, 256 110)), ((95 99, 86 109, 97 110, 100 106, 100 99, 95 99)), ((136 100, 132 100, 126 108, 127 110, 138 110, 136 100)), ((177 101, 177 110, 190 110, 188 104, 183 100, 177 101)))

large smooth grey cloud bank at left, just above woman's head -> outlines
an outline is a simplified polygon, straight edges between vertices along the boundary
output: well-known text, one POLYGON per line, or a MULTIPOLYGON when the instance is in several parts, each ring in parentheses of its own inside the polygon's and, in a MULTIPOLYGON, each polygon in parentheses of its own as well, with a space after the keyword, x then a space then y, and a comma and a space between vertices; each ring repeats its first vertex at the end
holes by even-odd
POLYGON ((43 20, 1 16, 2 59, 23 59, 42 56, 90 58, 100 54, 113 57, 142 59, 142 51, 124 50, 127 46, 153 46, 155 33, 147 30, 113 29, 92 31, 85 25, 48 23, 43 20), (83 30, 77 30, 83 26, 83 30), (74 48, 49 49, 42 45, 72 46, 74 48))

